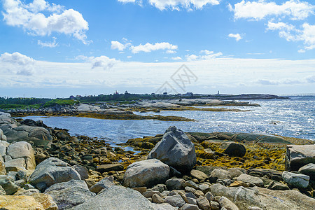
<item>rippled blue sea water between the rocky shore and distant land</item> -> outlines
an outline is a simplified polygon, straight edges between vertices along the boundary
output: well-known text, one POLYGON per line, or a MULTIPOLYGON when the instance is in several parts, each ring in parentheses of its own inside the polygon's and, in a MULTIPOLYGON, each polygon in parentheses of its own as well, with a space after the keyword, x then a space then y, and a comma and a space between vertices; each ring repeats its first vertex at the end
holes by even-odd
POLYGON ((315 141, 315 96, 293 96, 289 99, 250 100, 258 106, 224 106, 246 112, 161 111, 139 115, 183 116, 196 122, 160 120, 100 120, 76 117, 25 117, 43 120, 50 127, 66 128, 71 135, 106 139, 112 146, 127 139, 162 134, 171 125, 184 132, 251 132, 279 134, 315 141))

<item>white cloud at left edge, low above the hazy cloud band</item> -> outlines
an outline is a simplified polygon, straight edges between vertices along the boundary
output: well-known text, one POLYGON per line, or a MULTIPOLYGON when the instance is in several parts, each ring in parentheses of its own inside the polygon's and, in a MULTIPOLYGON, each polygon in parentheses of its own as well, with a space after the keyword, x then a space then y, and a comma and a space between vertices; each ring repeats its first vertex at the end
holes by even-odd
POLYGON ((0 56, 0 64, 3 69, 19 75, 30 76, 34 73, 35 60, 20 52, 12 54, 5 52, 0 56))

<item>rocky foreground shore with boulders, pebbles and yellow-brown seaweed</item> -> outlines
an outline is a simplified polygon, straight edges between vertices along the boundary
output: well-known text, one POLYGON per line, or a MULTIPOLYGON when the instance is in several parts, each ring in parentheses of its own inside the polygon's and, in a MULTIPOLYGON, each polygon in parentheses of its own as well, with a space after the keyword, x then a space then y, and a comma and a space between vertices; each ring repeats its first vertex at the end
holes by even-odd
POLYGON ((0 112, 0 154, 0 209, 315 207, 306 139, 169 127, 113 148, 0 112))

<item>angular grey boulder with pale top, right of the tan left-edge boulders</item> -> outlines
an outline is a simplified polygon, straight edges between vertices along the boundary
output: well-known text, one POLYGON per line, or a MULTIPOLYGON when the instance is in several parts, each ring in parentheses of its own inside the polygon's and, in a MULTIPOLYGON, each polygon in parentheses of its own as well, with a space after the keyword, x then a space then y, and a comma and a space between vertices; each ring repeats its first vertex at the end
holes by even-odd
POLYGON ((36 186, 38 183, 45 183, 47 187, 55 183, 80 180, 80 174, 70 167, 66 162, 57 158, 48 158, 41 162, 29 177, 29 183, 36 186))

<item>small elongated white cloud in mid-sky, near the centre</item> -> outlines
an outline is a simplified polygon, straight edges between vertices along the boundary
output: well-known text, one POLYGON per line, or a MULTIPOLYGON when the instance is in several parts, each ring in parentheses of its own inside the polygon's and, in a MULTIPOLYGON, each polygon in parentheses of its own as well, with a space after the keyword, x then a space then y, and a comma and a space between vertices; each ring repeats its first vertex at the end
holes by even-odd
POLYGON ((162 43, 146 43, 145 45, 137 45, 137 46, 131 46, 130 50, 132 50, 132 53, 137 54, 139 52, 152 52, 155 50, 177 50, 177 45, 172 45, 167 42, 162 43))

